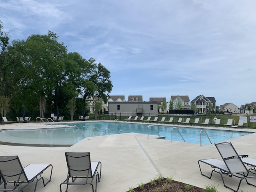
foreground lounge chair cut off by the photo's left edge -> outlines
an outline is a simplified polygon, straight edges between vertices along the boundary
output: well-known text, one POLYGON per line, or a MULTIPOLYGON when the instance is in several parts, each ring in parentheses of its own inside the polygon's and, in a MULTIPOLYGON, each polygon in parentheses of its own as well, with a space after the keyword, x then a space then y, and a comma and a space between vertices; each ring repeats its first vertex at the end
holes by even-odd
POLYGON ((21 191, 28 186, 31 182, 36 180, 34 192, 36 191, 36 186, 38 181, 42 179, 44 186, 50 182, 52 178, 52 165, 51 164, 29 164, 26 167, 22 167, 20 159, 18 156, 0 156, 0 177, 4 182, 4 189, 0 191, 21 191), (42 174, 45 170, 51 168, 50 178, 45 183, 45 176, 42 174), (8 183, 12 185, 8 186, 8 183))

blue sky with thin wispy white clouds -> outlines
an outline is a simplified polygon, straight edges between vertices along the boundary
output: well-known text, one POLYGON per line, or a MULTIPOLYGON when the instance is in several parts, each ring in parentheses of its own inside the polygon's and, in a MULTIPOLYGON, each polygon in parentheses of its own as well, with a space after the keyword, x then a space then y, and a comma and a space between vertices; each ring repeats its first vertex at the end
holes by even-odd
POLYGON ((255 0, 0 0, 11 40, 56 33, 110 71, 110 95, 256 102, 255 0))

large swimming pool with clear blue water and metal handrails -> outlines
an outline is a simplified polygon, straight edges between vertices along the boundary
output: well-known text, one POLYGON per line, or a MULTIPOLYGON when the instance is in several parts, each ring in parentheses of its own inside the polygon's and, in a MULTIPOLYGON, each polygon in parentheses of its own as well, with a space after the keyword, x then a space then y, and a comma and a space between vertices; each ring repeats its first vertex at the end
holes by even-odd
MULTIPOLYGON (((103 136, 109 134, 119 133, 141 133, 148 134, 149 124, 135 124, 135 123, 113 123, 113 122, 82 122, 82 123, 68 123, 69 126, 76 126, 66 128, 49 128, 49 129, 19 129, 19 130, 5 130, 0 132, 0 141, 2 144, 25 145, 25 146, 72 146, 80 140, 93 137, 103 136)), ((154 125, 150 126, 149 134, 165 136, 166 140, 190 142, 200 144, 200 128, 188 128, 175 126, 154 125), (180 134, 178 133, 178 130, 180 134), (183 138, 182 138, 183 137, 183 138), (184 140, 183 140, 184 139, 184 140)), ((226 130, 206 130, 212 143, 222 142, 232 138, 251 134, 252 132, 243 131, 226 131, 226 130)), ((145 135, 145 137, 147 137, 145 135)), ((208 145, 210 141, 204 132, 202 132, 202 144, 208 145)))

